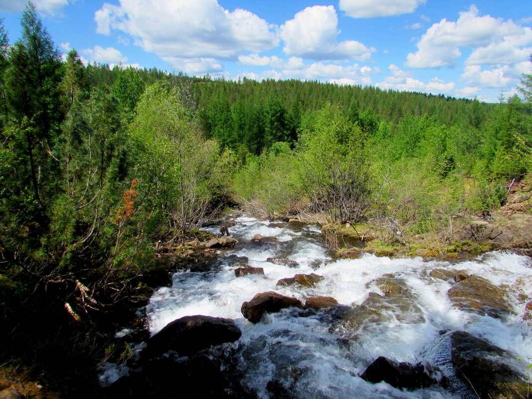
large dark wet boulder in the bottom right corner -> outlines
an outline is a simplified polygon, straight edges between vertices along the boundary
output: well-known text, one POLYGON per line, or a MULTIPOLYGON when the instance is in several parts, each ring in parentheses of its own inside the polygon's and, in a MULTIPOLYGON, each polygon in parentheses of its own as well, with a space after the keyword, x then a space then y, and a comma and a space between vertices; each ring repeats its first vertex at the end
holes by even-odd
POLYGON ((480 399, 532 398, 516 355, 464 331, 452 333, 451 354, 456 375, 480 399))

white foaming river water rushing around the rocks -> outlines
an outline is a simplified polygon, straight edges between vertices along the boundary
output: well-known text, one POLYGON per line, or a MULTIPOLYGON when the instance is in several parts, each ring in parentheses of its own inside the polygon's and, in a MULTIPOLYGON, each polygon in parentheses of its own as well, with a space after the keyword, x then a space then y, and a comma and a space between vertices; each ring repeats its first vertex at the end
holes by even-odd
MULTIPOLYGON (((415 259, 389 259, 365 254, 360 259, 332 261, 315 226, 270 225, 238 216, 230 235, 240 243, 232 251, 223 251, 209 272, 179 271, 173 286, 161 288, 147 306, 149 330, 155 334, 167 323, 186 315, 203 314, 234 319, 242 330, 235 343, 225 344, 231 362, 244 376, 242 385, 262 398, 275 397, 269 381, 290 390, 296 398, 459 398, 469 397, 460 381, 453 378, 450 343, 443 331, 463 330, 485 338, 516 353, 523 359, 532 356, 532 334, 522 320, 523 294, 532 296, 530 259, 512 253, 492 252, 477 259, 450 264, 415 259), (261 234, 275 239, 252 243, 261 234), (264 276, 235 277, 231 255, 246 256, 252 267, 264 269, 264 276), (295 268, 267 262, 282 256, 299 263, 295 268), (465 270, 506 287, 514 315, 506 320, 467 313, 451 306, 446 292, 449 282, 434 279, 428 272, 435 268, 465 270), (324 278, 314 287, 276 286, 279 279, 296 273, 316 273, 324 278), (381 293, 374 280, 393 275, 408 284, 412 301, 421 310, 425 322, 409 322, 393 311, 379 322, 368 322, 356 331, 331 329, 323 312, 302 314, 284 309, 265 314, 253 324, 244 319, 240 306, 257 293, 275 291, 295 296, 303 303, 307 297, 331 296, 339 304, 361 304, 370 292, 381 293), (396 361, 437 365, 451 381, 453 389, 431 387, 408 392, 384 382, 371 384, 359 376, 378 356, 396 361)), ((214 234, 219 227, 205 228, 214 234)), ((232 259, 235 259, 232 256, 232 259)), ((271 384, 271 383, 270 383, 271 384)))

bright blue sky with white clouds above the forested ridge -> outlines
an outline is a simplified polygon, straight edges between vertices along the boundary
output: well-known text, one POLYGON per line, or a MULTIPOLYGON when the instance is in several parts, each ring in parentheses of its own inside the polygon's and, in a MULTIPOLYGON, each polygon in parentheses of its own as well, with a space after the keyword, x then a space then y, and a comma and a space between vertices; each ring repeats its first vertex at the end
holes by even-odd
MULTIPOLYGON (((0 0, 10 40, 26 2, 0 0)), ((85 62, 477 97, 532 64, 532 0, 36 0, 85 62)))

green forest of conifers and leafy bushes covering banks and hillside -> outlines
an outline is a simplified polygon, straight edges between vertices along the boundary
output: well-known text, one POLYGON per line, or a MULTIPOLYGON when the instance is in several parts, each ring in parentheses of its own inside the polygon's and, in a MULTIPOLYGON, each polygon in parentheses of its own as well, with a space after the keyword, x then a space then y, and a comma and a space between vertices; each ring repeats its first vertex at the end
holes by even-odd
POLYGON ((62 57, 31 5, 21 26, 13 44, 0 26, 0 364, 58 390, 159 247, 228 206, 423 234, 489 214, 532 168, 532 74, 498 104, 227 81, 62 57))

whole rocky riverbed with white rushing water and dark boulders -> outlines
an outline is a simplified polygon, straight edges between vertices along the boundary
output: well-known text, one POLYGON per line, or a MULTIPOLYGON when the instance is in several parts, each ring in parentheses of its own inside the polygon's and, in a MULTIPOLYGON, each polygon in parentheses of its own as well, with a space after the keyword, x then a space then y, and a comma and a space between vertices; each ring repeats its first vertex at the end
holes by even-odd
POLYGON ((317 226, 223 226, 149 300, 149 334, 119 332, 111 397, 531 397, 528 256, 336 259, 317 226))

